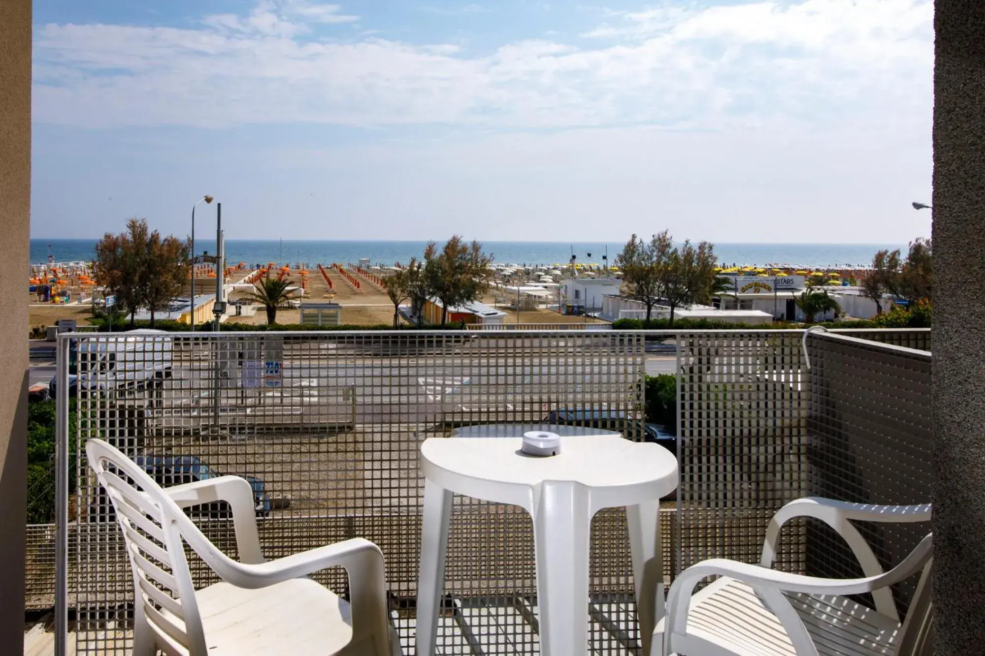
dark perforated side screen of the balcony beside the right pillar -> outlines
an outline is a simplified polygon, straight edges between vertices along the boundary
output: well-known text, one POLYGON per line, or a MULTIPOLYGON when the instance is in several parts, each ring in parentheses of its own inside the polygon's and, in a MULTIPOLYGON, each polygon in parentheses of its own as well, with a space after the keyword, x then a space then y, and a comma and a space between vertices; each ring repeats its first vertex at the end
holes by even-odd
MULTIPOLYGON (((845 501, 911 504, 931 500, 934 478, 931 354, 843 335, 813 333, 808 410, 810 492, 845 501)), ((884 567, 923 538, 925 524, 857 523, 884 567)), ((809 525, 807 572, 861 576, 841 538, 809 525)), ((913 582, 895 590, 901 610, 913 582)))

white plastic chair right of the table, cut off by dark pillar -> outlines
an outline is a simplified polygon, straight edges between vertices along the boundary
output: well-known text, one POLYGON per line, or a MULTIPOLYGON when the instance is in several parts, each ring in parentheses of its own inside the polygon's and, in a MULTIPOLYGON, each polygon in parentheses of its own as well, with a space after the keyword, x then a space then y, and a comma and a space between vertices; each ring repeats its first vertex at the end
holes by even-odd
POLYGON ((931 506, 870 505, 808 497, 781 508, 769 522, 758 565, 724 558, 683 571, 671 586, 667 616, 653 634, 651 655, 689 656, 920 656, 933 648, 931 541, 928 534, 898 565, 884 572, 851 520, 924 522, 931 506), (863 578, 828 579, 776 571, 780 528, 795 517, 815 517, 834 529, 858 558, 863 578), (906 619, 889 586, 920 573, 906 619), (719 576, 698 592, 705 577, 719 576), (875 609, 845 595, 872 593, 875 609))

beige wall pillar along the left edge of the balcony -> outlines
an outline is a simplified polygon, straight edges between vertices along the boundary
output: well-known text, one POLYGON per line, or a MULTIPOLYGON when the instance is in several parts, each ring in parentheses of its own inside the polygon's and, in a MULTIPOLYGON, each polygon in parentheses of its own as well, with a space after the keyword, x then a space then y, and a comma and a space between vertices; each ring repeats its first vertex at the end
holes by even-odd
POLYGON ((0 640, 24 652, 28 296, 31 211, 31 0, 0 0, 0 640))

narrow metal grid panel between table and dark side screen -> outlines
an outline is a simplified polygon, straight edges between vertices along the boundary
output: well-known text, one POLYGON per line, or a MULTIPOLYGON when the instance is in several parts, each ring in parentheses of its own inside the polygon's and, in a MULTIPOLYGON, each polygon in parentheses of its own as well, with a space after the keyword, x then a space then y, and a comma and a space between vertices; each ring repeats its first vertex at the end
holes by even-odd
MULTIPOLYGON (((678 336, 678 571, 705 558, 757 561, 769 518, 807 489, 802 335, 678 336)), ((784 532, 776 566, 801 570, 803 527, 784 532)))

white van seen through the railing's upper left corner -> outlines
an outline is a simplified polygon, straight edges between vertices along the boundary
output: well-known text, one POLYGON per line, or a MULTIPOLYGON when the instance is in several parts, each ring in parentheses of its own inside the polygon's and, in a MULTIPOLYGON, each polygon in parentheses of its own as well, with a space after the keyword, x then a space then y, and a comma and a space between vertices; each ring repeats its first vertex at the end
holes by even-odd
MULTIPOLYGON (((153 388, 171 377, 172 338, 164 330, 138 328, 123 336, 72 342, 68 360, 68 395, 79 389, 99 390, 112 398, 120 393, 153 388), (149 338, 151 335, 167 337, 149 338)), ((55 396, 57 376, 48 383, 55 396)))

